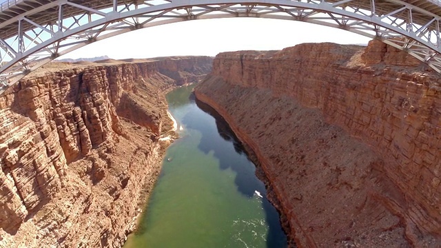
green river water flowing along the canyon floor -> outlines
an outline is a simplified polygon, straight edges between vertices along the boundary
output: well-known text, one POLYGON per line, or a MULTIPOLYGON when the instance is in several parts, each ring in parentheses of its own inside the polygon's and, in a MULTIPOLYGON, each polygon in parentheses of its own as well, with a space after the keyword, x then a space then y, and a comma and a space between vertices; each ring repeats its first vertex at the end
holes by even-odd
POLYGON ((287 247, 256 167, 229 128, 196 105, 193 87, 167 94, 181 138, 167 149, 138 229, 124 247, 287 247))

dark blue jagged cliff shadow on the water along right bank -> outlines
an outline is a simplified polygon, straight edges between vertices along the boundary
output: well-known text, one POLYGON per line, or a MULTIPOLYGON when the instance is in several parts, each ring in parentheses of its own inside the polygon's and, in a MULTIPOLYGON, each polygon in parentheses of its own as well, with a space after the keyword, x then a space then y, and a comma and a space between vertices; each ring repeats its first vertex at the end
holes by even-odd
MULTIPOLYGON (((234 145, 234 150, 238 154, 242 154, 243 156, 247 157, 247 160, 252 163, 252 161, 249 159, 249 156, 247 152, 245 152, 245 148, 243 145, 238 141, 238 138, 234 134, 234 132, 229 127, 228 123, 223 119, 216 110, 214 110, 209 105, 202 103, 201 101, 198 101, 194 94, 191 94, 189 96, 189 101, 192 103, 196 103, 196 105, 203 110, 203 112, 211 115, 215 121, 216 121, 216 129, 218 131, 218 134, 225 140, 232 142, 234 145)), ((196 113, 190 111, 188 112, 182 119, 183 124, 187 128, 200 130, 201 132, 204 132, 204 128, 198 128, 198 126, 203 126, 205 123, 198 121, 198 118, 196 117, 196 113)), ((212 135, 209 132, 205 132, 202 135, 201 143, 198 145, 198 149, 201 149, 205 154, 208 154, 210 151, 213 151, 214 157, 216 157, 220 164, 220 169, 232 169, 234 172, 236 172, 236 178, 234 178, 234 183, 236 184, 238 191, 247 196, 248 198, 253 198, 255 194, 255 190, 258 192, 261 192, 263 199, 262 199, 262 207, 265 211, 265 219, 267 220, 269 229, 267 233, 267 247, 286 247, 287 246, 287 240, 286 235, 283 231, 283 229, 280 226, 280 216, 276 208, 271 205, 269 200, 266 196, 266 189, 263 182, 256 179, 255 173, 249 173, 249 170, 245 168, 240 163, 236 163, 234 161, 234 158, 231 158, 229 156, 225 156, 225 154, 228 154, 227 152, 223 151, 223 147, 220 147, 216 145, 213 142, 212 135), (280 242, 280 240, 284 240, 283 242, 280 242)))

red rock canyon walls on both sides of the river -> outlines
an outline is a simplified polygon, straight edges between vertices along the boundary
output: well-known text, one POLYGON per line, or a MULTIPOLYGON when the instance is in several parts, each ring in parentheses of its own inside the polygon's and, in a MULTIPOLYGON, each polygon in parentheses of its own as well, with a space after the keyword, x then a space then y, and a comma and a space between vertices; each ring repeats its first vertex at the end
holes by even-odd
POLYGON ((441 76, 380 41, 32 72, 0 96, 0 247, 121 247, 176 137, 165 93, 201 79, 289 247, 440 247, 441 76))

